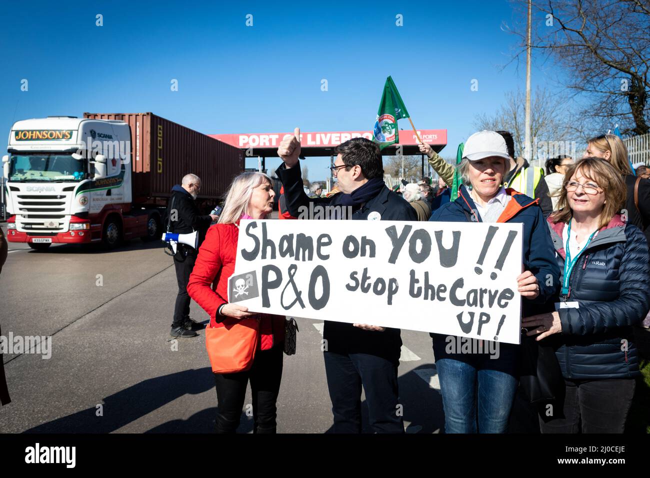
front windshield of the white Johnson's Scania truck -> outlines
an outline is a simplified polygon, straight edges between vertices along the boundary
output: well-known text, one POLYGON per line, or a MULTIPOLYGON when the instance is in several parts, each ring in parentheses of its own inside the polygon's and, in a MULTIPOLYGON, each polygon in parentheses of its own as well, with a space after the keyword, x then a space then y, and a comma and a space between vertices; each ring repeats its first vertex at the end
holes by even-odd
POLYGON ((12 154, 9 163, 9 181, 62 182, 86 178, 85 161, 78 161, 72 153, 12 154))

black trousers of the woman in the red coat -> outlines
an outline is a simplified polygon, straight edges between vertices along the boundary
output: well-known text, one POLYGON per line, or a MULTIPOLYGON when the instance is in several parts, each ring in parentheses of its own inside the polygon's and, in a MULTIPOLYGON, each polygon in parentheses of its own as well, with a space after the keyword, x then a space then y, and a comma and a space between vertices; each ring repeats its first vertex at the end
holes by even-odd
MULTIPOLYGON (((253 408, 253 433, 276 432, 283 349, 278 344, 270 350, 255 352, 253 366, 244 372, 214 374, 217 433, 234 433, 239 427, 248 380, 253 395, 250 404, 253 408)), ((247 414, 249 410, 247 405, 247 414)))

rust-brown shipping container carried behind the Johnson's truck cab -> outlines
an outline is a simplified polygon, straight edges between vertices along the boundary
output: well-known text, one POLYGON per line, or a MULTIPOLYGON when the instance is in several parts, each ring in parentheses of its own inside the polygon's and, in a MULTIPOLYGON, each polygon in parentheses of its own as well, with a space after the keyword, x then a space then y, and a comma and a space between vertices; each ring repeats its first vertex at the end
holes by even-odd
POLYGON ((94 120, 121 120, 131 127, 133 202, 171 195, 183 176, 201 178, 199 198, 223 199, 244 170, 238 148, 153 113, 84 113, 94 120))

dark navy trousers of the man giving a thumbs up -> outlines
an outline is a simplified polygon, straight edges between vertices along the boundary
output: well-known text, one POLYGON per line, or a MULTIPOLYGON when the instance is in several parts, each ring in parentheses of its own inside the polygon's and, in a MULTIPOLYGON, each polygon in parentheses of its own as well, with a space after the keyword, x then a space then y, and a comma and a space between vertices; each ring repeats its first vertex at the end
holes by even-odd
POLYGON ((333 432, 361 433, 361 386, 369 421, 376 433, 404 433, 398 406, 397 365, 370 354, 325 352, 325 373, 330 390, 333 432))

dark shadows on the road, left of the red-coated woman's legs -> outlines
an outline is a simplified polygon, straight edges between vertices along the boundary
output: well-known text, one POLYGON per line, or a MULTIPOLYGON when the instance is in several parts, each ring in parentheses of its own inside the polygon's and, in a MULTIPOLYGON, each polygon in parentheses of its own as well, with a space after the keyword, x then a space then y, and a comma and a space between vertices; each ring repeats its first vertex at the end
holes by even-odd
MULTIPOLYGON (((110 433, 186 393, 197 395, 211 388, 214 388, 214 380, 210 367, 149 378, 106 397, 103 401, 103 416, 97 416, 98 408, 92 406, 81 412, 33 427, 25 433, 110 433)), ((185 421, 174 420, 164 423, 151 431, 195 433, 214 431, 214 426, 211 425, 214 422, 214 412, 211 419, 205 418, 210 410, 212 409, 207 408, 185 421), (200 416, 202 421, 195 418, 197 416, 200 416)))

